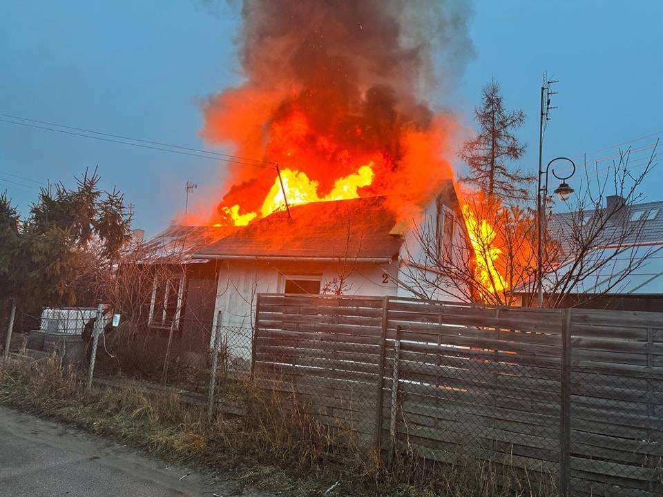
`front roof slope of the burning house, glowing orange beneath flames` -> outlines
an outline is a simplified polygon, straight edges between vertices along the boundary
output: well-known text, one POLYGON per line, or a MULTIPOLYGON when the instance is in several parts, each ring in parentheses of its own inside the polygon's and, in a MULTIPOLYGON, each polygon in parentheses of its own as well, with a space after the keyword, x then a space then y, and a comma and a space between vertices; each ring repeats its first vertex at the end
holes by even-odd
POLYGON ((238 257, 385 258, 401 249, 390 235, 396 215, 386 197, 364 197, 292 206, 292 218, 278 211, 196 252, 238 257))

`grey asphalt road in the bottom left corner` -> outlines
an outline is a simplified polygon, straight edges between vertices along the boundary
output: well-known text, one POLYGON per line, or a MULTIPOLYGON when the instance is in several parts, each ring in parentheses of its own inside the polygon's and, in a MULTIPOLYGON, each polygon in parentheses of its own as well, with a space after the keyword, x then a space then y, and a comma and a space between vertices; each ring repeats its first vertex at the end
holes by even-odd
POLYGON ((268 497, 0 407, 0 497, 268 497))

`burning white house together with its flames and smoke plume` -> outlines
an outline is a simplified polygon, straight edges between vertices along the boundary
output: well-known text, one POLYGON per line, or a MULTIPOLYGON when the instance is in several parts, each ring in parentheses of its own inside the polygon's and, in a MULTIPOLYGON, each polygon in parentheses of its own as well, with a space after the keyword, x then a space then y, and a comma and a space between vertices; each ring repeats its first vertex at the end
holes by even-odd
MULTIPOLYGON (((214 282, 214 322, 249 328, 258 291, 396 295, 406 291, 399 266, 418 257, 414 226, 432 223, 442 246, 464 239, 449 162, 459 125, 428 101, 455 84, 471 53, 468 12, 421 8, 244 1, 245 78, 209 97, 200 131, 233 154, 223 193, 181 219, 229 233, 183 265, 209 269, 198 279, 214 282)), ((164 309, 157 288, 151 315, 169 315, 176 288, 191 309, 189 281, 167 285, 164 309)))

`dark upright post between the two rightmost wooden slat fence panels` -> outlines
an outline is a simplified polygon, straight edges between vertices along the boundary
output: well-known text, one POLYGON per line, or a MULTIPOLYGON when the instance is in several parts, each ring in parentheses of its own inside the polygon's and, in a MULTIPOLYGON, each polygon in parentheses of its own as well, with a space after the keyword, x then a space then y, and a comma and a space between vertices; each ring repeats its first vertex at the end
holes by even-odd
POLYGON ((559 494, 568 495, 571 449, 571 309, 561 311, 561 402, 559 412, 559 494))

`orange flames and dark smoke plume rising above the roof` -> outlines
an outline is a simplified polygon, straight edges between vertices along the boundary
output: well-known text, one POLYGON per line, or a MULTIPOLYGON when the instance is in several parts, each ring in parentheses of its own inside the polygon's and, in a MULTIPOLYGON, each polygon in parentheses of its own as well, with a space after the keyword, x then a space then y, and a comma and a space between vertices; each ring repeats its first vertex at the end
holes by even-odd
MULTIPOLYGON (((468 8, 245 0, 242 17, 246 81, 207 101, 207 142, 278 163, 290 204, 390 195, 411 220, 453 177, 456 120, 427 97, 436 82, 450 88, 470 55, 468 8), (433 75, 434 49, 441 75, 433 75)), ((284 204, 273 168, 233 165, 224 191, 212 224, 244 225, 284 204)))

